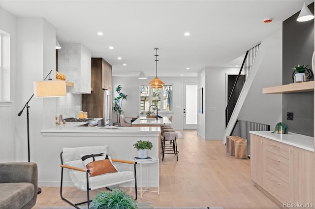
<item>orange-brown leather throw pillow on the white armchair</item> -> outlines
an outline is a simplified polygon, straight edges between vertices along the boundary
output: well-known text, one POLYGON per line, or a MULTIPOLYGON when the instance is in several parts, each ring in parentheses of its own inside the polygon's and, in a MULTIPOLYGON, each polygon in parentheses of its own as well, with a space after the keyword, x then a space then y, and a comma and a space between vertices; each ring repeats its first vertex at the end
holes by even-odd
POLYGON ((90 170, 89 174, 91 177, 117 172, 116 168, 109 159, 93 161, 86 167, 90 170))

